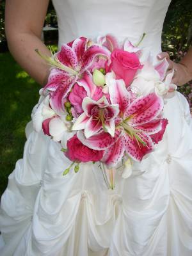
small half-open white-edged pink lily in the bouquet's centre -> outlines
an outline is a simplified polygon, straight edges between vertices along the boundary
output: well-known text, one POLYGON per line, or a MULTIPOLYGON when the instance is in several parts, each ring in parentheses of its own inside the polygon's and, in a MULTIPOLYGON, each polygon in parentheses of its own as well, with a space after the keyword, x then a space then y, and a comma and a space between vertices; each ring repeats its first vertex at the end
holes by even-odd
POLYGON ((89 97, 83 99, 82 113, 76 120, 72 130, 83 130, 86 138, 90 138, 102 129, 113 137, 115 135, 115 118, 119 113, 118 104, 109 104, 105 96, 95 101, 89 97))

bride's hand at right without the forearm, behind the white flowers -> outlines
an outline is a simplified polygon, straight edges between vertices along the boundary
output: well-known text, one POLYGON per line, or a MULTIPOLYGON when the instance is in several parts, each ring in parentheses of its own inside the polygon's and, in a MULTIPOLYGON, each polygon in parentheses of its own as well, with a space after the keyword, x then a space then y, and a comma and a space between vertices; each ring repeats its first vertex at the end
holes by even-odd
POLYGON ((188 83, 191 80, 191 74, 188 70, 188 67, 184 65, 184 63, 176 63, 172 60, 170 60, 170 56, 168 52, 161 52, 157 55, 157 58, 159 60, 163 60, 163 58, 166 58, 166 60, 169 63, 169 67, 167 70, 167 74, 172 72, 173 68, 175 70, 174 76, 172 79, 172 83, 177 84, 179 86, 188 83))

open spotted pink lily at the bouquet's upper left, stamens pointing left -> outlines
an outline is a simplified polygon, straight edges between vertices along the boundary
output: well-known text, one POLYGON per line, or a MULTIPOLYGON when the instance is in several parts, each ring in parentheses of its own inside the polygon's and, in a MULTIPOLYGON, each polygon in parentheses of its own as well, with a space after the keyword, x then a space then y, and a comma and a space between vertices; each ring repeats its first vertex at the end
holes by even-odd
MULTIPOLYGON (((77 38, 69 44, 63 44, 61 51, 45 58, 52 67, 44 92, 51 91, 50 104, 57 112, 63 111, 63 100, 72 86, 81 79, 83 72, 92 65, 95 56, 103 55, 109 60, 108 49, 99 44, 87 46, 87 38, 77 38)), ((36 50, 38 52, 38 50, 36 50)), ((38 52, 39 53, 39 52, 38 52)))

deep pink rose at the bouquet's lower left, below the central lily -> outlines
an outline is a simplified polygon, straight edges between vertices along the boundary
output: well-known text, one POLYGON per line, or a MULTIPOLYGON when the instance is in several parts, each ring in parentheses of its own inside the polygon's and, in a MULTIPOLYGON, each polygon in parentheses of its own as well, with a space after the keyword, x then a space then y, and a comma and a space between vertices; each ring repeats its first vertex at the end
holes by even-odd
POLYGON ((67 141, 67 152, 65 156, 71 161, 80 161, 83 163, 89 161, 99 161, 104 154, 103 150, 93 150, 84 146, 81 141, 78 140, 77 135, 74 135, 67 141))

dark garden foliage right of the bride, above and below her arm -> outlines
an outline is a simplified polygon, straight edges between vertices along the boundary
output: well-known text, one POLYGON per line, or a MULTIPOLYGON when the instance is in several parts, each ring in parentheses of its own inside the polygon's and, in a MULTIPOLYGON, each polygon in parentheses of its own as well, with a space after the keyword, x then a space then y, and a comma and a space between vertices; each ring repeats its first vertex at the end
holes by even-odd
MULTIPOLYGON (((178 62, 188 51, 192 42, 192 1, 172 0, 162 34, 162 49, 178 62)), ((178 91, 188 99, 192 113, 192 81, 179 86, 178 91)))

